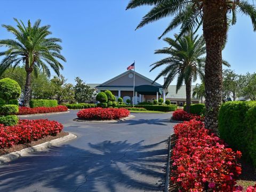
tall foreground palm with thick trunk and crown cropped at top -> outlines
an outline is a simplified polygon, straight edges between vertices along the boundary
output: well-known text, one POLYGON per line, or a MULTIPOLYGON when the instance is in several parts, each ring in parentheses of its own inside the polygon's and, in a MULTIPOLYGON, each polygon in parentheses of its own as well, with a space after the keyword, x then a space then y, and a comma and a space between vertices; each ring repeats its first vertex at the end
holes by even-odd
POLYGON ((205 126, 218 131, 218 111, 222 93, 222 49, 227 39, 228 27, 235 25, 237 12, 249 15, 256 30, 255 6, 242 0, 131 0, 126 9, 153 5, 139 23, 138 28, 161 18, 174 16, 163 34, 180 27, 180 35, 197 31, 203 25, 206 44, 205 63, 205 126))

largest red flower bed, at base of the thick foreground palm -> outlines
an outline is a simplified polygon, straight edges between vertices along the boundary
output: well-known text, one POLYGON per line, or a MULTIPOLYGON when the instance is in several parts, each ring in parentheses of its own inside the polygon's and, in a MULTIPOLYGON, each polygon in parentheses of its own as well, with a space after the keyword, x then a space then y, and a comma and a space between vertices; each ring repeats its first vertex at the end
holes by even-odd
POLYGON ((223 141, 195 119, 174 127, 177 141, 172 159, 175 177, 171 180, 180 191, 239 191, 234 187, 241 174, 237 159, 241 152, 226 148, 223 141))

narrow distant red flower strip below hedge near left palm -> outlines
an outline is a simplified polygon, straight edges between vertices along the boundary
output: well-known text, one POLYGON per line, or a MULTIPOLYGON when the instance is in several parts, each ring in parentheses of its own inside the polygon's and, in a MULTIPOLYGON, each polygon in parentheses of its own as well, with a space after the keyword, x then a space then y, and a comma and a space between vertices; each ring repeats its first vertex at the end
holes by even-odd
POLYGON ((41 114, 41 113, 53 113, 53 112, 62 112, 67 111, 66 106, 57 106, 57 107, 19 107, 19 113, 17 115, 28 115, 28 114, 41 114))

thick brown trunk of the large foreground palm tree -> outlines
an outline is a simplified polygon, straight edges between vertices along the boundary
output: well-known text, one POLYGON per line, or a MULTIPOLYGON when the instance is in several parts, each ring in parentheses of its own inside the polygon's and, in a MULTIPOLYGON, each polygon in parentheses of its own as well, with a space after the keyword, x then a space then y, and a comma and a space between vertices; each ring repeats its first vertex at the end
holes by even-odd
POLYGON ((218 132, 218 111, 222 99, 222 47, 227 34, 226 1, 208 0, 203 8, 205 62, 205 127, 218 132))

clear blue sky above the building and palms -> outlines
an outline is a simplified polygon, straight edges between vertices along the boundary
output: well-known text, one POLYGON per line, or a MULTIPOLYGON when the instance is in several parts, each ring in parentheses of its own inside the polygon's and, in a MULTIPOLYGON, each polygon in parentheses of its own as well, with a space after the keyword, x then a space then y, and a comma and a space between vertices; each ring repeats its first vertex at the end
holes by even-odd
MULTIPOLYGON (((154 50, 166 46, 157 37, 161 35, 171 18, 134 30, 149 7, 125 11, 129 1, 0 1, 0 24, 15 25, 12 18, 34 22, 41 19, 43 25, 51 25, 52 36, 61 38, 62 54, 67 63, 62 74, 74 83, 79 76, 86 83, 103 83, 123 73, 134 60, 136 71, 154 79, 161 69, 152 72, 150 64, 165 55, 155 55, 154 50)), ((251 21, 238 16, 236 26, 231 27, 223 59, 228 60, 236 73, 254 73, 256 33, 251 21)), ((178 29, 166 36, 173 37, 178 29)), ((0 38, 12 38, 0 28, 0 38)), ((159 79, 158 83, 163 83, 159 79)), ((175 84, 173 82, 172 84, 175 84)))

